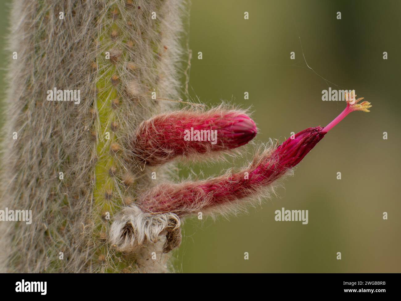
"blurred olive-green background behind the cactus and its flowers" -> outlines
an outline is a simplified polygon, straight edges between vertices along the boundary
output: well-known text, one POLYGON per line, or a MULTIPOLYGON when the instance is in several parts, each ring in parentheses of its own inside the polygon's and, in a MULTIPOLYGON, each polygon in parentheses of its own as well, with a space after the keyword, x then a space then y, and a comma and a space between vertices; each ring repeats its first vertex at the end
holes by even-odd
MULTIPOLYGON (((0 2, 2 45, 9 2, 0 2)), ((190 98, 251 107, 256 144, 328 124, 345 106, 321 100, 328 87, 355 89, 373 107, 327 134, 279 189, 280 198, 229 219, 187 219, 174 252, 176 271, 401 272, 400 12, 401 2, 389 0, 192 1, 190 98), (282 207, 308 210, 308 225, 276 222, 282 207)), ((10 54, 0 51, 4 68, 10 54)), ((1 69, 1 98, 3 78, 1 69)), ((180 176, 202 179, 241 167, 251 159, 252 147, 247 150, 228 163, 181 166, 180 176)))

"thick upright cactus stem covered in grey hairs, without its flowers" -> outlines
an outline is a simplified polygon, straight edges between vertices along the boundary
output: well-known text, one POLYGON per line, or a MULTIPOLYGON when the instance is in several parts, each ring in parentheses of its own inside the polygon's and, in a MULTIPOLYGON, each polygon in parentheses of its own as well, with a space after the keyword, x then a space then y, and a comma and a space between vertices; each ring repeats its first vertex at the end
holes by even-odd
POLYGON ((159 99, 179 96, 186 10, 181 0, 14 1, 1 205, 32 210, 32 224, 1 224, 2 271, 166 271, 162 246, 125 254, 107 235, 150 185, 125 157, 138 125, 176 104, 159 99), (65 101, 70 90, 79 101, 65 101))

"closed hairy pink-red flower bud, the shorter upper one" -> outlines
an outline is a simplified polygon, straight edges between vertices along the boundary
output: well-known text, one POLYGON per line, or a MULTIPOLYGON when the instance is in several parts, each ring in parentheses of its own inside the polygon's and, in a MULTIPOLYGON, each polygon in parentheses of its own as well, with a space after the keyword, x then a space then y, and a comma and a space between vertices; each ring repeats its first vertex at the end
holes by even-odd
POLYGON ((175 157, 227 151, 247 144, 256 133, 255 122, 240 110, 177 111, 142 122, 132 153, 137 161, 159 165, 175 157))

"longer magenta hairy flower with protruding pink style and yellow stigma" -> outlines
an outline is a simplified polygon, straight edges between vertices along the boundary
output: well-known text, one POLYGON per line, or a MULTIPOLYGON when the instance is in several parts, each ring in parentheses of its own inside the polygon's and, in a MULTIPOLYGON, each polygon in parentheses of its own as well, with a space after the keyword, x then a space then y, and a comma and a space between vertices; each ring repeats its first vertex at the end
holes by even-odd
POLYGON ((273 151, 263 153, 259 160, 239 173, 205 181, 164 183, 142 195, 138 200, 139 206, 145 212, 170 212, 183 216, 212 207, 219 208, 219 205, 238 205, 247 197, 257 198, 263 189, 300 163, 324 135, 349 112, 369 112, 369 102, 357 104, 361 99, 357 99, 353 104, 347 101, 345 110, 325 128, 318 126, 302 130, 294 139, 288 138, 273 151))

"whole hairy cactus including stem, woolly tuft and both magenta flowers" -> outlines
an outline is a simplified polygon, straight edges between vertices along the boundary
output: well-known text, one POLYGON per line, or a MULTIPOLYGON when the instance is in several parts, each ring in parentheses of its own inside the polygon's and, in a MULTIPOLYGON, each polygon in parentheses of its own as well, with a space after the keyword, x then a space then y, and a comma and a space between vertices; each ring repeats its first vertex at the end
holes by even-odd
POLYGON ((184 5, 14 0, 1 206, 32 210, 32 223, 0 224, 2 271, 168 271, 185 217, 227 215, 268 197, 349 112, 369 111, 369 102, 347 102, 325 128, 271 142, 240 172, 166 181, 174 159, 234 153, 257 132, 243 110, 163 101, 179 97, 184 5), (76 96, 65 90, 82 99, 61 101, 76 96), (210 139, 194 138, 202 130, 210 139))

